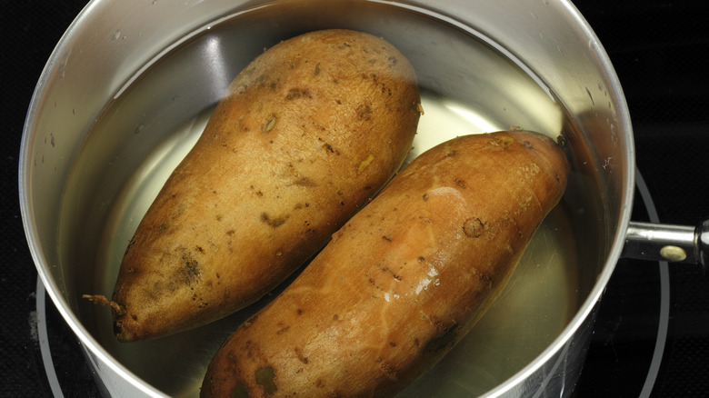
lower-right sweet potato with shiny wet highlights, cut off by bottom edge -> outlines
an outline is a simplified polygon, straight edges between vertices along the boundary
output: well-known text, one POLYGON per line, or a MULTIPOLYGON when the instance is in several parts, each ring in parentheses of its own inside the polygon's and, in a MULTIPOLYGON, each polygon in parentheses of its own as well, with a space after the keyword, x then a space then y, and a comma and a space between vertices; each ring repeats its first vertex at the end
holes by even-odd
POLYGON ((482 316, 564 193, 541 134, 468 135, 421 154, 215 354, 216 396, 387 396, 482 316))

